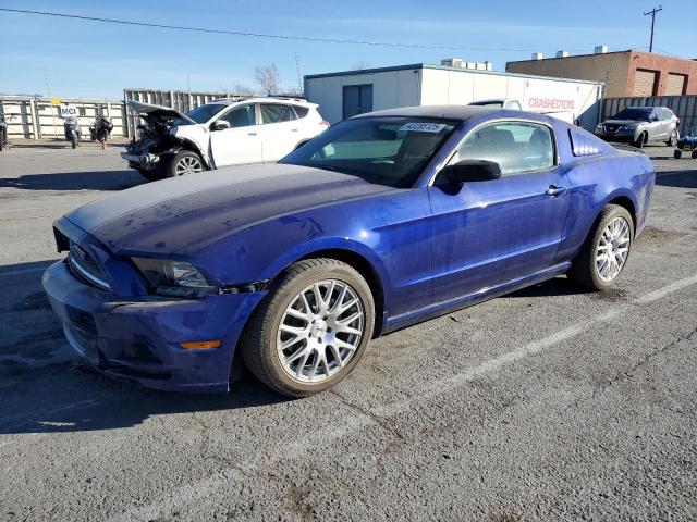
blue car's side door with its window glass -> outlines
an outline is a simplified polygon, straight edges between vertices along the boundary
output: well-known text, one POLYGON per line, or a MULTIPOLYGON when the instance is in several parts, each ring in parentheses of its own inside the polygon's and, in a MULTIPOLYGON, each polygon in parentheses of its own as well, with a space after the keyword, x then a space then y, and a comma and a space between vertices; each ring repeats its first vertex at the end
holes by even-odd
POLYGON ((486 124, 470 132, 451 163, 496 161, 500 179, 429 188, 433 299, 474 294, 554 262, 568 211, 568 182, 554 132, 536 122, 486 124))

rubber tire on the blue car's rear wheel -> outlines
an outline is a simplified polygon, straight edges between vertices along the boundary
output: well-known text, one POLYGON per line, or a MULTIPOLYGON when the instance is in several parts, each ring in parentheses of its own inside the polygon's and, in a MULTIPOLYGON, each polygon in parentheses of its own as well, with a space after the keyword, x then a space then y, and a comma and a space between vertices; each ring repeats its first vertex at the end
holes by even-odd
MULTIPOLYGON (((620 207, 619 204, 608 204, 602 209, 602 212, 588 233, 588 237, 586 237, 580 252, 578 252, 578 256, 574 259, 571 270, 568 271, 568 277, 591 290, 606 290, 610 288, 616 283, 620 275, 622 275, 622 272, 629 259, 633 243, 634 222, 632 220, 632 215, 629 215, 629 212, 627 212, 624 207, 620 207), (612 274, 611 272, 613 272, 614 268, 612 266, 611 261, 607 261, 607 264, 602 264, 602 260, 598 256, 598 252, 599 249, 604 248, 603 245, 601 245, 601 240, 603 243, 607 240, 608 227, 613 223, 619 223, 621 225, 622 222, 626 225, 626 238, 623 234, 622 240, 616 241, 616 248, 626 248, 626 253, 622 258, 623 261, 621 261, 621 264, 616 263, 619 265, 616 274, 612 274), (626 247, 622 245, 626 245, 626 247), (602 269, 607 269, 607 266, 610 266, 611 270, 610 272, 606 272, 603 275, 602 269), (608 277, 609 275, 610 277, 608 277)), ((621 250, 615 249, 615 241, 611 244, 610 248, 613 250, 612 258, 615 259, 616 262, 616 259, 619 258, 614 252, 621 252, 621 250)))

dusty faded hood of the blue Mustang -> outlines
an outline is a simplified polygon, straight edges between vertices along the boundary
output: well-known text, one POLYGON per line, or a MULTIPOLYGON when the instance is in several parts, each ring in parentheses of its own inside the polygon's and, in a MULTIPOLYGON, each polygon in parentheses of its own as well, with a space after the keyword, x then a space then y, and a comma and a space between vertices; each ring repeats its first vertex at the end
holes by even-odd
POLYGON ((65 219, 114 254, 185 256, 267 220, 394 190, 346 174, 273 163, 142 185, 65 219))

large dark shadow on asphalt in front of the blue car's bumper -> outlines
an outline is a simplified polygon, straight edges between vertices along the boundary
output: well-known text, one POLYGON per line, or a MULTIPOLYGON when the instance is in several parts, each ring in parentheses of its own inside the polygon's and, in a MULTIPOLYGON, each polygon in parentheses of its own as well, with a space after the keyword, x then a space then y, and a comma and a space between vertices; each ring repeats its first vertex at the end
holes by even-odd
POLYGON ((40 261, 0 266, 0 434, 85 432, 152 415, 254 408, 289 400, 234 363, 230 394, 148 390, 87 366, 65 340, 41 288, 40 261))

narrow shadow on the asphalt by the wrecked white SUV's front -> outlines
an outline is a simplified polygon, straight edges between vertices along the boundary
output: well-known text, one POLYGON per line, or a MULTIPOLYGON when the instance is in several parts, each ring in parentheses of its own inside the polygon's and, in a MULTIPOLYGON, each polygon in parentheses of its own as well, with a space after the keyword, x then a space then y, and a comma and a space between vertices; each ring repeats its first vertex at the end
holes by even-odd
POLYGON ((21 190, 123 190, 147 181, 135 171, 63 172, 26 174, 0 179, 0 188, 21 190))

